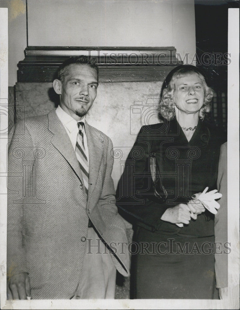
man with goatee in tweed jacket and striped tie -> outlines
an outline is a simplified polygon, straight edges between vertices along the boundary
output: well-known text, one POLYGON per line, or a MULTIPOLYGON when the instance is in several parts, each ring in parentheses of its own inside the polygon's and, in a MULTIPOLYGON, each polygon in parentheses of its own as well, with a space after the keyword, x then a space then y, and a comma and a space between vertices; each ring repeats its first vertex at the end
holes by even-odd
POLYGON ((97 86, 95 60, 70 57, 53 82, 57 109, 16 125, 8 159, 9 299, 114 298, 115 268, 129 275, 112 142, 85 120, 97 86))

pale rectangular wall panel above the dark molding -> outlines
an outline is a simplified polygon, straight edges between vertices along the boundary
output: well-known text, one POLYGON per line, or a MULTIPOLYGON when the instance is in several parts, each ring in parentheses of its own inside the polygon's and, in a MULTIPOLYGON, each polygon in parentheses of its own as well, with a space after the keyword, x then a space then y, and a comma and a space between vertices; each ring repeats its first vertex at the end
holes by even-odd
POLYGON ((29 45, 171 46, 172 5, 166 0, 29 0, 29 45))

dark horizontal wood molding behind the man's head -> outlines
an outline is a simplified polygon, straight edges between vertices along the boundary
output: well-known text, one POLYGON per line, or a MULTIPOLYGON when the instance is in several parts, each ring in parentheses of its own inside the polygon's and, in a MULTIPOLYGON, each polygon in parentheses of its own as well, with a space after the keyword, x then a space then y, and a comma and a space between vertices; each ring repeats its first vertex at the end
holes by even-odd
POLYGON ((99 82, 163 81, 176 65, 174 47, 37 47, 24 51, 18 63, 18 82, 52 82, 69 56, 97 58, 99 82))

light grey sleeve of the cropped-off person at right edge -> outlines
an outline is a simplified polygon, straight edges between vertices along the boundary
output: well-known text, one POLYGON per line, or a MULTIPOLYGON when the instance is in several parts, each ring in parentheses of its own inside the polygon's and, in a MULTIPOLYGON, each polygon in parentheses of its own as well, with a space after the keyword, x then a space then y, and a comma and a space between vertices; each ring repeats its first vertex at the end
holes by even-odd
POLYGON ((218 166, 217 189, 222 194, 218 201, 220 208, 215 215, 215 272, 216 287, 224 288, 228 286, 228 255, 226 253, 227 233, 228 233, 228 211, 227 211, 227 144, 224 143, 220 149, 220 159, 218 166))

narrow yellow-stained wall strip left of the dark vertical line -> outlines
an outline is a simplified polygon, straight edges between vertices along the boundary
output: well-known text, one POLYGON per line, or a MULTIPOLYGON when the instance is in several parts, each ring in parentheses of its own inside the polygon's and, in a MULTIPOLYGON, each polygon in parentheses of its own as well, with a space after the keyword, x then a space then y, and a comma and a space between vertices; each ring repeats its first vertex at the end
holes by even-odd
POLYGON ((8 8, 8 86, 14 86, 27 46, 26 0, 0 0, 0 7, 8 8))

